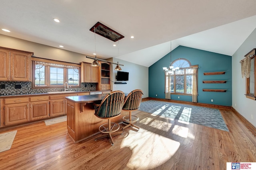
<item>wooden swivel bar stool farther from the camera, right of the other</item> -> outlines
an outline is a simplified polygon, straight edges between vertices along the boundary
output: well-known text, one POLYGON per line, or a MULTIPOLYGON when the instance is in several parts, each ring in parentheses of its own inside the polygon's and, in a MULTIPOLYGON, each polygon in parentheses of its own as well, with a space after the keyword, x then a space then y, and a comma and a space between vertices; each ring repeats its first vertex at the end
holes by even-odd
POLYGON ((139 117, 132 115, 132 111, 136 111, 140 108, 140 103, 142 100, 142 90, 136 89, 130 92, 125 100, 124 100, 124 106, 122 110, 129 111, 130 115, 126 115, 123 117, 123 121, 129 123, 123 129, 126 129, 127 127, 136 127, 137 129, 140 129, 140 127, 132 124, 139 120, 139 117))

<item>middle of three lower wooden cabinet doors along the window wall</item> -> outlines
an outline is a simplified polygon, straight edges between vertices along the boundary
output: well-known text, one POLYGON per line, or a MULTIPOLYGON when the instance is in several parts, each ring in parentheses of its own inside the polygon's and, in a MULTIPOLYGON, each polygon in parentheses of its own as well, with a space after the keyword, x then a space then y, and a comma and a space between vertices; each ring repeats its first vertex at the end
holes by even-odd
POLYGON ((44 119, 49 117, 49 102, 30 103, 30 120, 44 119))

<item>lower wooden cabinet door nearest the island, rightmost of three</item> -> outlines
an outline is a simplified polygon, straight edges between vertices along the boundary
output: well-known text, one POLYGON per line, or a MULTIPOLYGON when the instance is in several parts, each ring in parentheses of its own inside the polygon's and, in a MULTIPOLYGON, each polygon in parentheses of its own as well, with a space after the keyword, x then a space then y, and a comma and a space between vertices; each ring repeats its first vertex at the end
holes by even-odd
POLYGON ((50 116, 64 115, 65 114, 65 99, 51 100, 50 101, 50 116))

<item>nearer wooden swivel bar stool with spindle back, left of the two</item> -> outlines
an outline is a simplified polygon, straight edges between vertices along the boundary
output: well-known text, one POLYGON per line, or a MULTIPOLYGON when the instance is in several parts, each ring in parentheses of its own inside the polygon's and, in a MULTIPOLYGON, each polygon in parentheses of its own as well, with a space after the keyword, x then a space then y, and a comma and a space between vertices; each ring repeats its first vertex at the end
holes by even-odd
POLYGON ((123 105, 124 92, 122 91, 114 91, 107 94, 100 104, 94 104, 95 115, 100 119, 108 119, 108 123, 104 123, 99 127, 99 131, 105 135, 95 138, 94 141, 109 137, 111 144, 114 145, 112 135, 122 134, 123 131, 117 132, 120 129, 120 125, 111 122, 111 119, 120 116, 123 105))

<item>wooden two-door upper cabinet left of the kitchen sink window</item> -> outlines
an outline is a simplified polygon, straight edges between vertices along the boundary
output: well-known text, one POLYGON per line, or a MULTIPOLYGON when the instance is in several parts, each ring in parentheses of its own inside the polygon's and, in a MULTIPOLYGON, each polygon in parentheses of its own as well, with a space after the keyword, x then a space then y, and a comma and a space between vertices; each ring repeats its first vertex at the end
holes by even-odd
POLYGON ((31 81, 31 52, 0 47, 0 81, 31 81))

